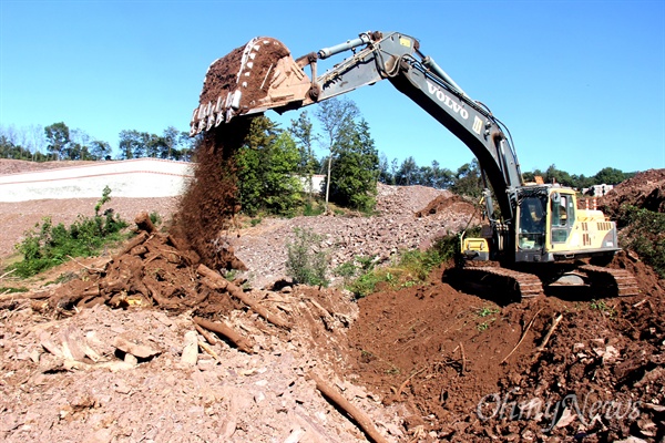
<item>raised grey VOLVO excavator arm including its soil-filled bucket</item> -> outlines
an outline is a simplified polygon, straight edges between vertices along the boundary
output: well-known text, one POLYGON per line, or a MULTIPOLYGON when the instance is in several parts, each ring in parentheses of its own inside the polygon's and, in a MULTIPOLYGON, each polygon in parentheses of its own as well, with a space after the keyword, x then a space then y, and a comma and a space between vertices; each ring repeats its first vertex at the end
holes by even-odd
MULTIPOLYGON (((505 136, 508 131, 419 47, 418 40, 398 32, 366 32, 294 60, 278 40, 253 39, 208 68, 191 134, 236 115, 267 110, 282 113, 388 80, 471 150, 494 190, 503 222, 510 225, 516 206, 515 189, 523 183, 516 155, 505 136), (346 51, 352 54, 317 75, 319 60, 346 51), (310 76, 304 70, 308 65, 310 76)), ((485 204, 491 217, 493 207, 487 189, 485 204)))

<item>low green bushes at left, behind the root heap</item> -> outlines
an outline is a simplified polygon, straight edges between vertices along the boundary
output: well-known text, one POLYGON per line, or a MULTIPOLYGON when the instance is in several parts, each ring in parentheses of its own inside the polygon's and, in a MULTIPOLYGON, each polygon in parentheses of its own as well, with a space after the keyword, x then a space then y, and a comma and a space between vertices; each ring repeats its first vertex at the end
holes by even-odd
POLYGON ((43 270, 58 266, 69 257, 90 257, 100 253, 109 243, 122 239, 120 231, 127 226, 126 222, 113 215, 109 209, 100 215, 101 206, 111 198, 111 189, 106 187, 102 199, 95 205, 94 217, 79 216, 69 228, 63 224, 53 226, 50 217, 45 217, 35 229, 25 233, 25 238, 16 245, 23 260, 11 265, 18 277, 32 277, 43 270))

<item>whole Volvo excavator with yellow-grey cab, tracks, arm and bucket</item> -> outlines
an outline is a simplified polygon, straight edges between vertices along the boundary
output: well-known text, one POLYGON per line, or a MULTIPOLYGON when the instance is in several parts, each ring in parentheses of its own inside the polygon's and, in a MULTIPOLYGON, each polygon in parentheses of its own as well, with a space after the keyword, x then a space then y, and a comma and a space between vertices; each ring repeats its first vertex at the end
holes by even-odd
POLYGON ((300 109, 382 80, 478 158, 489 223, 480 237, 461 237, 463 279, 504 288, 516 298, 535 297, 556 286, 582 286, 610 296, 637 293, 630 272, 602 266, 621 249, 615 223, 601 210, 579 208, 572 188, 525 183, 505 125, 424 55, 412 37, 364 32, 298 59, 276 39, 255 38, 209 65, 191 135, 245 115, 300 109), (317 73, 319 61, 347 51, 346 59, 317 73))

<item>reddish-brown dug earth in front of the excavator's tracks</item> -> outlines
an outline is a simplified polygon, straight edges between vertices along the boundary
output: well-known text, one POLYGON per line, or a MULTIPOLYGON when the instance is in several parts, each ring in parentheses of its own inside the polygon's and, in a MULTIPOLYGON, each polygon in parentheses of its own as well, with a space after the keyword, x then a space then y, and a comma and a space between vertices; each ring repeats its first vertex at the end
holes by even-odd
MULTIPOLYGON (((421 441, 589 442, 665 435, 663 290, 501 307, 440 282, 371 295, 352 371, 409 408, 421 441)), ((652 289, 652 288, 648 288, 652 289)))

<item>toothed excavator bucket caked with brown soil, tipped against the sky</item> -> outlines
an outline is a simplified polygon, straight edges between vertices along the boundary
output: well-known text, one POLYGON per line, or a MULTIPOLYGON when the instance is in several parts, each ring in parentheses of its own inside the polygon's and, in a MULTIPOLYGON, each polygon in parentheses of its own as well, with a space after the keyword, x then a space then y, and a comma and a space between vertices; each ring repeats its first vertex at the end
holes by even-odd
POLYGON ((257 37, 211 64, 203 82, 190 135, 228 122, 235 115, 299 107, 311 81, 278 40, 257 37))

